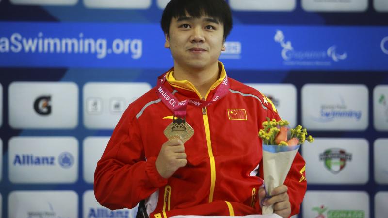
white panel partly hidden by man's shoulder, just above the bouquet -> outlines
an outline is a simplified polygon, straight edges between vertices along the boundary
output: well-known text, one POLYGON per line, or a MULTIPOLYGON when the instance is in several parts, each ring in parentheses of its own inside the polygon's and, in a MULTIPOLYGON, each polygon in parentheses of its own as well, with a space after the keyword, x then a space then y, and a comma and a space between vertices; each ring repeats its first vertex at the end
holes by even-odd
POLYGON ((280 117, 290 123, 291 128, 296 124, 296 87, 292 84, 259 84, 246 83, 271 99, 280 117))

